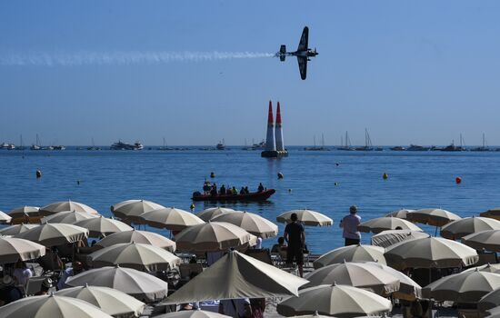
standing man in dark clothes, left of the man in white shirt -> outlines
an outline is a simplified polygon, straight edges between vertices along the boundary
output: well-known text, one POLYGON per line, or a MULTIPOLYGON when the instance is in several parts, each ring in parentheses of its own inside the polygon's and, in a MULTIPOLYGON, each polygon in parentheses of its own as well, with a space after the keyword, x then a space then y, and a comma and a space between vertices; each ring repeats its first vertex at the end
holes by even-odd
POLYGON ((286 248, 286 263, 293 263, 294 260, 298 266, 300 277, 304 276, 304 245, 305 233, 304 226, 297 222, 297 214, 290 215, 291 223, 285 227, 285 241, 288 243, 286 248))

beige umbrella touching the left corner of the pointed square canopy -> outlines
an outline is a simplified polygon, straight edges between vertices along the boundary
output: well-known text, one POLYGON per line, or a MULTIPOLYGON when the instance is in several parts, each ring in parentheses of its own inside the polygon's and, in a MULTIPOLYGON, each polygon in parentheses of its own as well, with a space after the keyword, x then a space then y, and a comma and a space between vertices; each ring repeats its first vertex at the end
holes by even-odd
POLYGON ((114 288, 145 303, 162 300, 168 292, 168 283, 133 268, 107 266, 91 269, 69 277, 67 286, 104 286, 114 288))

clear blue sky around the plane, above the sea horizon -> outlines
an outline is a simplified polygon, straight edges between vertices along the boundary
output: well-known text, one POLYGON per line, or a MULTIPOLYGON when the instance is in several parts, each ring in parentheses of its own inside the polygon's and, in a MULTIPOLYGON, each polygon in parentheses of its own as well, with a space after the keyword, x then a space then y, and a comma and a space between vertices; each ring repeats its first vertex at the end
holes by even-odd
MULTIPOLYGON (((269 99, 285 144, 500 144, 495 1, 3 1, 0 142, 244 144, 265 138, 269 99), (300 79, 273 57, 10 65, 12 56, 295 48, 319 55, 300 79)), ((28 57, 26 57, 28 56, 28 57)), ((28 58, 28 59, 29 59, 28 58)))

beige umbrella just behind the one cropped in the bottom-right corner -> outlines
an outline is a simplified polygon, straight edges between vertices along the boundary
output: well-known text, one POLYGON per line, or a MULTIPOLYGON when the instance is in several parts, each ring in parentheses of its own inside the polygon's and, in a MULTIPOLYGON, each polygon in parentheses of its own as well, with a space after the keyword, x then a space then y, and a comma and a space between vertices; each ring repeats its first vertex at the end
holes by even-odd
POLYGON ((436 301, 476 303, 486 293, 498 288, 500 288, 500 274, 475 270, 440 278, 425 286, 424 295, 436 301))

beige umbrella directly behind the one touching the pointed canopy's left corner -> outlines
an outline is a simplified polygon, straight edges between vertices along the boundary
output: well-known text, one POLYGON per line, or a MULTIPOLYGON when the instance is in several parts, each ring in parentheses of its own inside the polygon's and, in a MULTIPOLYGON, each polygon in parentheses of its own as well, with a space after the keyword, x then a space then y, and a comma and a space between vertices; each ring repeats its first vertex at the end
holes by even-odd
POLYGON ((139 271, 160 272, 177 267, 181 259, 161 247, 142 243, 119 243, 88 255, 93 267, 120 265, 139 271))

